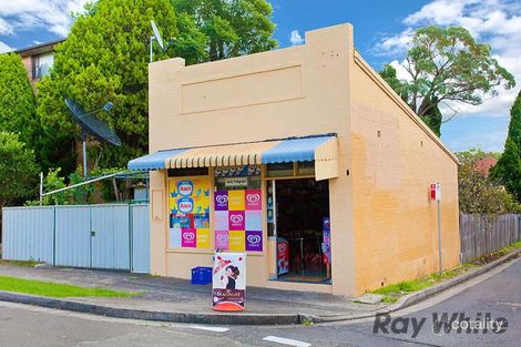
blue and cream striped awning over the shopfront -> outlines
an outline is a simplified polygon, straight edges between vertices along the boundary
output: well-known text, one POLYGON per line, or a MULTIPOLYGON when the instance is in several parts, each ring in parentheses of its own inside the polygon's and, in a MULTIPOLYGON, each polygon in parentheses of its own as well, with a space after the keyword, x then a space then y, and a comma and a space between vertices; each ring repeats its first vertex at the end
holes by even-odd
POLYGON ((338 176, 334 134, 155 152, 129 162, 130 170, 255 165, 315 161, 315 176, 338 176))

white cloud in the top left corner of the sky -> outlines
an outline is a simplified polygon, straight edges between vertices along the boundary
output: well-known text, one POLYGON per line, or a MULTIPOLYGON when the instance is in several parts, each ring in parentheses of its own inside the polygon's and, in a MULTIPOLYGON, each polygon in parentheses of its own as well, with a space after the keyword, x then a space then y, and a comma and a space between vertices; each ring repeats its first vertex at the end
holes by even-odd
POLYGON ((0 0, 0 34, 45 29, 61 37, 69 33, 71 13, 88 0, 0 0))

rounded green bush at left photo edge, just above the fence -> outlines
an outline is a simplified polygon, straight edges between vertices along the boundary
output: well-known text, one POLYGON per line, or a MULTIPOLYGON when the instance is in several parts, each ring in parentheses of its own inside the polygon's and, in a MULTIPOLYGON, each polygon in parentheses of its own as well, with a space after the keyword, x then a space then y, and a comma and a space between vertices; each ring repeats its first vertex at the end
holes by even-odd
POLYGON ((34 152, 18 135, 0 131, 0 208, 34 193, 38 167, 34 152))

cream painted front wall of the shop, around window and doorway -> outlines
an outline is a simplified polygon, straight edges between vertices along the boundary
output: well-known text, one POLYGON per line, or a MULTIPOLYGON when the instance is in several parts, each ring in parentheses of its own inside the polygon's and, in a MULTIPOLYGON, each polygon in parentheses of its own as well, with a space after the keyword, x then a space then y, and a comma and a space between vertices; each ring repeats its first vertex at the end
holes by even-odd
MULTIPOLYGON (((248 256, 248 285, 354 293, 353 200, 350 178, 345 174, 350 166, 348 89, 353 60, 353 28, 343 24, 307 32, 306 44, 284 50, 191 67, 184 67, 182 59, 150 64, 151 152, 338 134, 343 174, 330 180, 333 286, 268 280, 267 245, 264 255, 248 256)), ((164 172, 151 181, 166 194, 164 172)), ((152 272, 190 278, 192 267, 212 264, 212 252, 166 251, 166 207, 164 214, 163 221, 152 222, 152 272)))

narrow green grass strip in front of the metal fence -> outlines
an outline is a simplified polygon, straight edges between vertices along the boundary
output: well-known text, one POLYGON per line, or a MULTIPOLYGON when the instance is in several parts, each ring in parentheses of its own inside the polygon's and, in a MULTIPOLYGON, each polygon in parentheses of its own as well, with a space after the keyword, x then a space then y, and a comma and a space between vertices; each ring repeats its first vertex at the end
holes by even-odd
POLYGON ((0 290, 50 297, 133 297, 141 293, 125 293, 103 288, 84 288, 34 279, 0 276, 0 290))

